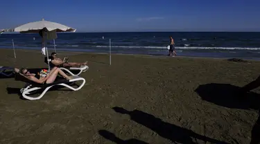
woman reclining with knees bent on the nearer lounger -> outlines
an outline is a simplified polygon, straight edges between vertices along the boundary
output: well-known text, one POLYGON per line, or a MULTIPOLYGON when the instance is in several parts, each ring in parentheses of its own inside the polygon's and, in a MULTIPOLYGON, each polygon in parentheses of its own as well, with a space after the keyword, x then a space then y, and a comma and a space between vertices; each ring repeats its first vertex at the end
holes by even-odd
POLYGON ((31 80, 33 82, 39 83, 39 84, 51 84, 55 81, 57 78, 57 75, 62 75, 63 78, 70 80, 72 79, 68 75, 66 75, 62 70, 60 70, 58 67, 54 67, 51 69, 49 73, 46 74, 46 76, 41 76, 40 74, 30 73, 28 69, 17 69, 15 68, 15 72, 19 73, 20 75, 24 76, 24 78, 27 78, 28 80, 31 80))

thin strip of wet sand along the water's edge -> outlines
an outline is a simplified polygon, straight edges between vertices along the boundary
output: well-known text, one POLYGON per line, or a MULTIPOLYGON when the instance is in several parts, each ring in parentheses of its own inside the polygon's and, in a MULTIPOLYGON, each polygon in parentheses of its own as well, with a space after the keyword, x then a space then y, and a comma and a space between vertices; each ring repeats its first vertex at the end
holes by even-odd
MULTIPOLYGON (((13 51, 13 48, 0 48, 0 51, 13 51)), ((15 48, 15 51, 35 51, 37 53, 41 53, 41 49, 39 48, 39 50, 37 50, 36 48, 31 48, 31 49, 26 49, 26 48, 15 48)), ((95 53, 95 52, 87 52, 87 51, 66 51, 64 49, 60 50, 58 48, 56 48, 57 53, 67 53, 67 55, 75 55, 76 53, 78 54, 89 54, 89 55, 109 55, 109 52, 107 51, 107 53, 95 53)), ((49 48, 49 54, 51 54, 51 52, 54 51, 54 48, 49 48)), ((169 57, 168 55, 153 55, 153 54, 139 54, 139 53, 111 53, 112 55, 134 55, 134 56, 141 56, 141 57, 161 57, 161 58, 198 58, 198 59, 213 59, 213 60, 229 60, 232 58, 237 58, 237 59, 241 59, 241 60, 248 60, 248 61, 260 61, 260 58, 244 58, 244 57, 200 57, 200 56, 184 56, 184 55, 180 55, 180 56, 175 56, 175 57, 169 57)))

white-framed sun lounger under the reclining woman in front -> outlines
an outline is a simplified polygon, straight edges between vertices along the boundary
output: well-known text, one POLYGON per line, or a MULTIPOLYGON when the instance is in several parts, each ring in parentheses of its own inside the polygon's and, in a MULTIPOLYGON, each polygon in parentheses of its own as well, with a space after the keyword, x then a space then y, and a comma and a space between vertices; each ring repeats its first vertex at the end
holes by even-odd
POLYGON ((55 82, 53 82, 51 84, 35 84, 35 83, 29 84, 28 86, 22 88, 20 90, 20 92, 21 92, 21 95, 28 100, 39 100, 53 86, 63 86, 63 87, 67 87, 73 91, 78 91, 79 89, 81 89, 84 86, 86 81, 84 78, 81 78, 77 75, 73 75, 72 77, 73 77, 73 79, 71 79, 71 80, 56 80, 55 82), (78 81, 83 81, 79 87, 73 88, 73 87, 69 86, 69 83, 78 82, 78 81), (37 97, 28 96, 29 94, 35 93, 37 90, 40 90, 40 89, 44 90, 44 91, 42 91, 40 96, 37 96, 37 97))

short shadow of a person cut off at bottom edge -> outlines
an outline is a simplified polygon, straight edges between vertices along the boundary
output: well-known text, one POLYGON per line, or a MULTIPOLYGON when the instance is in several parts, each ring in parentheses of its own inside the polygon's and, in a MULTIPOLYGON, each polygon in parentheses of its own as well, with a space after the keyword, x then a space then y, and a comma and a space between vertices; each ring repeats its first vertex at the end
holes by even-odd
POLYGON ((129 140, 125 140, 123 141, 122 139, 116 137, 114 134, 112 134, 111 132, 108 132, 106 130, 99 130, 98 133, 103 136, 104 138, 110 140, 110 141, 113 141, 114 143, 117 143, 117 144, 148 144, 144 141, 139 141, 135 138, 131 138, 129 140))

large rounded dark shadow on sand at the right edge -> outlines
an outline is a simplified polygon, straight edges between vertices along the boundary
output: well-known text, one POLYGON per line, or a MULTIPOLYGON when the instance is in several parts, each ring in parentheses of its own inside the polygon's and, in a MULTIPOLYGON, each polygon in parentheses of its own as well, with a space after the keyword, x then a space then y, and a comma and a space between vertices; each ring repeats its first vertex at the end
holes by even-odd
POLYGON ((235 109, 259 109, 260 94, 250 92, 246 98, 239 97, 239 89, 232 84, 202 84, 195 91, 202 98, 216 105, 235 109))

